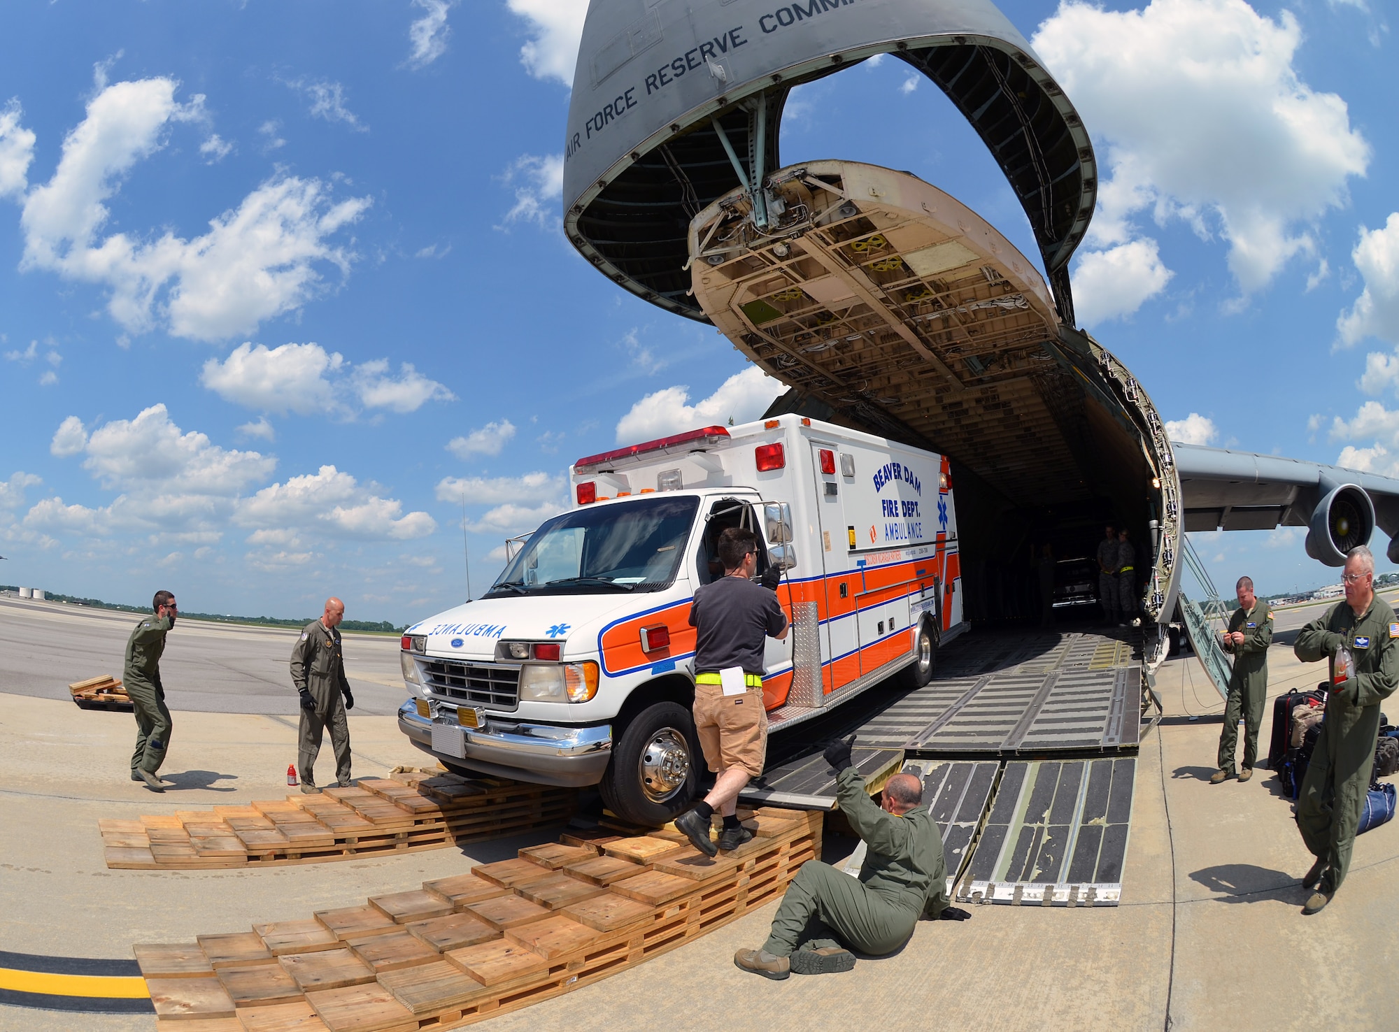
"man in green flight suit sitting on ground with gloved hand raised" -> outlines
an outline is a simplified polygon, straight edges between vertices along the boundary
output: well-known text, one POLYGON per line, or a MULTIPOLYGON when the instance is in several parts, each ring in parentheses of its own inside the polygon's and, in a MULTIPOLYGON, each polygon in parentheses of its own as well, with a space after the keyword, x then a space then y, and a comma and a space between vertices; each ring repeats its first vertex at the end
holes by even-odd
POLYGON ((876 803, 865 787, 846 741, 825 750, 835 768, 835 797, 851 828, 865 842, 858 878, 807 860, 788 887, 761 949, 740 949, 733 962, 769 979, 789 973, 823 975, 849 970, 855 954, 891 954, 908 941, 918 919, 965 920, 971 915, 947 905, 947 861, 943 836, 923 803, 923 783, 897 773, 876 803))

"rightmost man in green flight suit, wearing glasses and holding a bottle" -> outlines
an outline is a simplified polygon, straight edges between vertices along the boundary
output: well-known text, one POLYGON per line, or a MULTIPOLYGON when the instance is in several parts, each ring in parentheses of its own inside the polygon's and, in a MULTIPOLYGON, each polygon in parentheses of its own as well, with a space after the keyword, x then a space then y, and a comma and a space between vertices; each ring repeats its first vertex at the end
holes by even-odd
POLYGON ((1346 600, 1297 633, 1302 663, 1325 659, 1326 719, 1297 798, 1297 828, 1316 863, 1302 875, 1314 889, 1302 913, 1316 913, 1350 868, 1360 812, 1370 789, 1379 703, 1399 685, 1399 618, 1375 594, 1375 557, 1364 545, 1346 555, 1346 600))

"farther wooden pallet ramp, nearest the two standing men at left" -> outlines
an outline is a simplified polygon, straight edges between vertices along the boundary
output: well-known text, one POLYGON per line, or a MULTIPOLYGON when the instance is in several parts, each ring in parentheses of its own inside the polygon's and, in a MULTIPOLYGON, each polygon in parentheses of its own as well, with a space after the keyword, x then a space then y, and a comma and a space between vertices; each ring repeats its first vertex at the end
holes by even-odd
POLYGON ((396 773, 315 796, 98 826, 108 867, 273 867, 498 839, 565 822, 576 798, 572 789, 498 777, 396 773))

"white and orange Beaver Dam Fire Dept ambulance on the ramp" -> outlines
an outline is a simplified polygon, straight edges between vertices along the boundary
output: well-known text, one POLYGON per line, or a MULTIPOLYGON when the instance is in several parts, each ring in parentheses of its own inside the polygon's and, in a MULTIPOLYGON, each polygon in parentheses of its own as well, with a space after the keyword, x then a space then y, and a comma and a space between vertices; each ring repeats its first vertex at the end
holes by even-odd
POLYGON ((684 808, 705 766, 690 600, 723 576, 725 527, 781 571, 771 730, 895 674, 926 684, 967 628, 943 456, 781 415, 579 459, 571 488, 481 599, 403 635, 399 727, 449 769, 597 784, 638 822, 684 808))

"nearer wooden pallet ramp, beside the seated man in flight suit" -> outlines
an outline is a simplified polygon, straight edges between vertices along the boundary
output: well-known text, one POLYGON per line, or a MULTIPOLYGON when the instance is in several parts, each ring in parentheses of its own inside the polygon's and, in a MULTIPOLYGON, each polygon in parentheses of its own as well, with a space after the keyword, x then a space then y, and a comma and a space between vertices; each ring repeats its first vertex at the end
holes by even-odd
POLYGON ((821 815, 758 810, 711 860, 673 826, 565 835, 519 859, 309 920, 137 945, 159 1032, 418 1032, 469 1025, 603 979, 786 888, 821 815), (196 1024, 197 1022, 197 1024, 196 1024))

